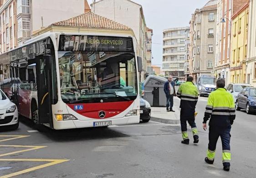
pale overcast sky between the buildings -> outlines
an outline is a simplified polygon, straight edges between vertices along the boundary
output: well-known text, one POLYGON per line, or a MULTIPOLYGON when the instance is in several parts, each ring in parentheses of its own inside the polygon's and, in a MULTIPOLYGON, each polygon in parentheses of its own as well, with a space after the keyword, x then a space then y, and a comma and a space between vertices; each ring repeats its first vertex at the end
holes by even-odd
MULTIPOLYGON (((88 0, 91 4, 93 0, 88 0)), ((98 0, 96 0, 98 1, 98 0)), ((146 24, 153 29, 152 64, 162 67, 163 30, 189 26, 191 14, 208 0, 133 0, 142 5, 146 24)), ((124 24, 125 25, 125 24, 124 24)))

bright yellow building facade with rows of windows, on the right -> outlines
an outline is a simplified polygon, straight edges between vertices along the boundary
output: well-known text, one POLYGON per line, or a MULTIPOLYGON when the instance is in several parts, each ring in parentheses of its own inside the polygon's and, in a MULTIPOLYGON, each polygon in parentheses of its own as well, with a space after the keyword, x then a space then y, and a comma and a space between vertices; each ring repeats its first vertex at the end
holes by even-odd
POLYGON ((246 83, 246 59, 249 25, 249 2, 241 6, 231 17, 231 61, 230 81, 232 83, 246 83))

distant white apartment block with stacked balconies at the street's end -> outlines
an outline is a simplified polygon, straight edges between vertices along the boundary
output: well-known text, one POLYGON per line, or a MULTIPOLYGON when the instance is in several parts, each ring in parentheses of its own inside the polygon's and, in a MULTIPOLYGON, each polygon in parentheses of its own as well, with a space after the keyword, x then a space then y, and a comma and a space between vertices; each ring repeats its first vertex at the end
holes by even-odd
POLYGON ((163 30, 163 71, 165 76, 184 78, 189 27, 163 30))

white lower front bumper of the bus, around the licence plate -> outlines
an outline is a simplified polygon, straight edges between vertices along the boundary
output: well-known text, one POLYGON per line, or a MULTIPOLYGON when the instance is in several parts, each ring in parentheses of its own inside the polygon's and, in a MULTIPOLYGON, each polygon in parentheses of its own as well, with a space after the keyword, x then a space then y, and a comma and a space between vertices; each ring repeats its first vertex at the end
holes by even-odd
POLYGON ((77 128, 88 128, 93 127, 94 122, 107 122, 111 121, 111 125, 122 125, 122 124, 138 124, 139 115, 129 116, 118 119, 93 119, 93 120, 67 120, 67 121, 57 121, 54 119, 54 129, 77 129, 77 128))

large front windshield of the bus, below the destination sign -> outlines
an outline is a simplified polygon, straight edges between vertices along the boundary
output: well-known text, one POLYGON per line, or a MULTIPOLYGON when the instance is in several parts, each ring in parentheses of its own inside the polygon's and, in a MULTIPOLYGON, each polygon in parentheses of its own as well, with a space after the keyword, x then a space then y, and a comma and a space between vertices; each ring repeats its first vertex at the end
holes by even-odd
POLYGON ((133 52, 58 51, 61 98, 65 103, 134 100, 133 52))

